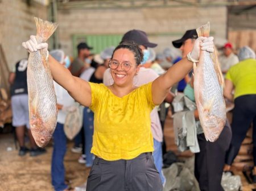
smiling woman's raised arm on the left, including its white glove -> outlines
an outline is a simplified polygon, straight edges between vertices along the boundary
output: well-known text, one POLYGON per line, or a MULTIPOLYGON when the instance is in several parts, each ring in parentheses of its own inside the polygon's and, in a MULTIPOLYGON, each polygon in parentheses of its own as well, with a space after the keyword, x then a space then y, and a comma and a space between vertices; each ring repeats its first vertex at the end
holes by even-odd
MULTIPOLYGON (((47 43, 38 44, 36 42, 35 36, 31 36, 30 40, 22 43, 23 47, 29 52, 35 52, 39 49, 48 48, 47 43)), ((63 86, 68 93, 81 105, 90 106, 92 103, 92 94, 90 85, 88 82, 80 79, 79 77, 72 76, 71 72, 58 61, 53 59, 51 55, 48 57, 49 68, 53 80, 55 80, 59 85, 63 86)))

